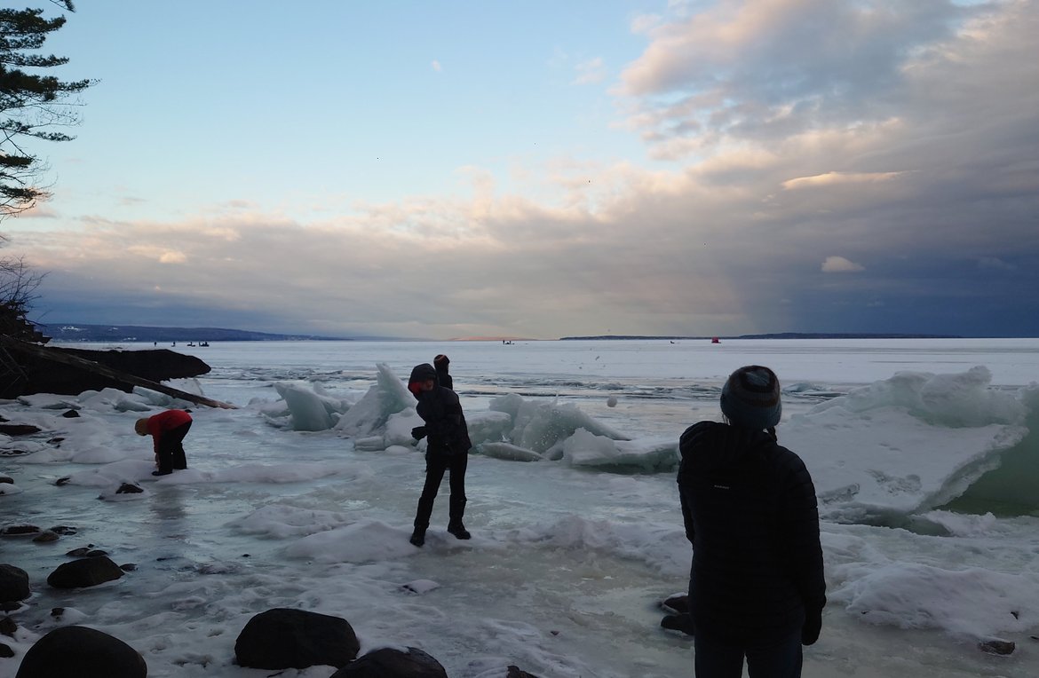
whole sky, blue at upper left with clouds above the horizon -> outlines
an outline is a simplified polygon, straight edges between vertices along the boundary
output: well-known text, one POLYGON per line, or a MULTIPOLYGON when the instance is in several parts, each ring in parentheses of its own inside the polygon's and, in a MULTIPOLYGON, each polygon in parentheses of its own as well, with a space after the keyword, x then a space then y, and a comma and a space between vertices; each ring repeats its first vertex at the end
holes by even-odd
POLYGON ((1039 336, 1039 0, 77 5, 44 323, 1039 336))

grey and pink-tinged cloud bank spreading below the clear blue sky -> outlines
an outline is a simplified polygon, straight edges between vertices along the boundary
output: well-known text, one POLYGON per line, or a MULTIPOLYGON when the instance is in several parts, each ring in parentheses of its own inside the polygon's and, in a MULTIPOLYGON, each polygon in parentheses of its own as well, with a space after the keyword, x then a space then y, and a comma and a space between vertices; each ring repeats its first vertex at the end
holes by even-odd
POLYGON ((703 7, 637 19, 645 50, 611 76, 627 125, 667 162, 523 151, 460 161, 460 192, 327 218, 225 196, 162 220, 4 225, 52 272, 44 309, 63 322, 1039 333, 1039 298, 1021 294, 1039 289, 1039 2, 703 7))

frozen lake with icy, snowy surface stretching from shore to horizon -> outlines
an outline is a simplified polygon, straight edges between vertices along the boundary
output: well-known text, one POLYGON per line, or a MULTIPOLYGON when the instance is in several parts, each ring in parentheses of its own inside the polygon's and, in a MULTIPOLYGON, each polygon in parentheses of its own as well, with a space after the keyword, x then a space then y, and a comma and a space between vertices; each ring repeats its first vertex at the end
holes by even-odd
MULTIPOLYGON (((659 627, 658 603, 685 588, 691 555, 672 470, 581 466, 576 455, 523 463, 474 454, 474 539, 444 531, 445 484, 427 544, 417 549, 407 536, 424 462, 393 438, 395 419, 355 448, 336 428, 294 430, 276 388, 313 392, 346 412, 377 388, 377 364, 406 378, 437 353, 451 356, 471 428, 511 394, 564 419, 576 409, 638 450, 718 418, 728 373, 769 365, 784 386, 780 442, 805 458, 828 516, 830 602, 804 675, 1039 675, 1039 340, 176 350, 213 368, 180 387, 238 409, 192 407, 189 469, 159 482, 132 424, 159 411, 161 399, 106 392, 0 404, 10 422, 44 429, 2 441, 0 472, 19 490, 0 496, 5 523, 78 531, 53 544, 0 539, 0 562, 28 571, 34 592, 11 615, 21 628, 7 644, 20 654, 0 659, 0 678, 12 677, 21 653, 60 623, 126 641, 150 676, 265 676, 234 665, 234 641, 251 616, 276 606, 347 619, 363 652, 419 647, 452 678, 504 676, 509 663, 541 678, 691 676, 690 639, 659 627), (900 372, 932 377, 894 379, 900 372), (62 418, 71 408, 81 416, 62 418), (55 437, 64 438, 58 448, 49 442, 55 437), (58 487, 59 478, 72 482, 58 487), (119 480, 145 492, 98 498, 119 480), (95 589, 50 589, 47 574, 64 552, 87 543, 137 569, 95 589), (402 589, 422 579, 438 586, 422 595, 402 589), (50 616, 57 606, 69 611, 63 622, 50 616), (978 649, 996 638, 1016 643, 1015 653, 978 649)), ((395 416, 403 422, 407 412, 395 416)))

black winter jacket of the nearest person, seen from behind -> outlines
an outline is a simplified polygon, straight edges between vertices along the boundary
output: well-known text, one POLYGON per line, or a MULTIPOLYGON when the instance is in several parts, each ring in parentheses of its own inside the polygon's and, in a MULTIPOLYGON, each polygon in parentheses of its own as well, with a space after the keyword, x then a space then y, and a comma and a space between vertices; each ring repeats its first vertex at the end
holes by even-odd
POLYGON ((696 632, 747 645, 796 633, 826 604, 819 510, 801 458, 764 431, 700 422, 678 443, 696 632))

